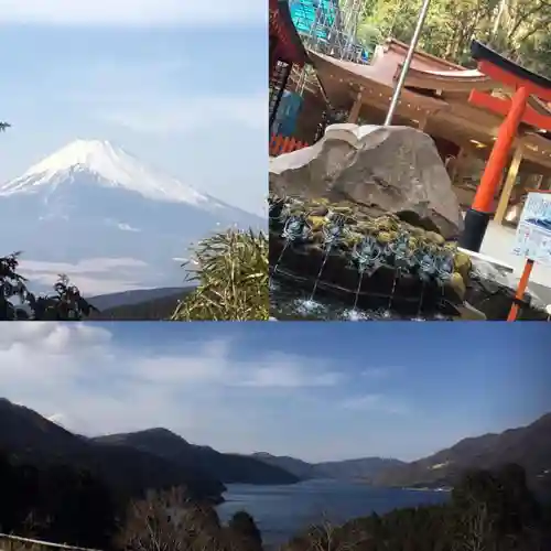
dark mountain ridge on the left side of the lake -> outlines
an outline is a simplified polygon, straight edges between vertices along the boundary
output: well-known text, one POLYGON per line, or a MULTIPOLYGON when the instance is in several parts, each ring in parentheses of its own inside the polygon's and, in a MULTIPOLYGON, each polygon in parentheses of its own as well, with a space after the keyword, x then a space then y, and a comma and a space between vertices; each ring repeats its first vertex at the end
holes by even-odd
POLYGON ((224 483, 299 480, 252 457, 192 445, 165 429, 88 439, 6 399, 0 399, 0 452, 10 457, 88 468, 129 494, 185 485, 197 498, 219 500, 224 483))

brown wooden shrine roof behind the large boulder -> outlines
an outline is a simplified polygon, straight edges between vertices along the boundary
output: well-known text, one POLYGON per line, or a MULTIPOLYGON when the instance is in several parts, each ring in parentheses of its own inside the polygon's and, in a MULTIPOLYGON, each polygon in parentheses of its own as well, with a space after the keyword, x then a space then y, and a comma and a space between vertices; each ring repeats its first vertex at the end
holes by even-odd
MULTIPOLYGON (((334 107, 348 109, 353 99, 361 95, 366 107, 386 112, 402 68, 408 45, 389 40, 379 46, 371 64, 357 64, 309 52, 327 98, 334 107)), ((488 152, 503 117, 468 102, 473 89, 507 97, 512 90, 491 80, 477 69, 440 60, 417 51, 402 91, 397 115, 410 121, 428 120, 425 131, 452 142, 476 142, 488 152)), ((550 106, 530 98, 530 106, 551 117, 550 106)), ((538 129, 525 126, 518 139, 526 148, 527 161, 551 171, 551 140, 538 129)))

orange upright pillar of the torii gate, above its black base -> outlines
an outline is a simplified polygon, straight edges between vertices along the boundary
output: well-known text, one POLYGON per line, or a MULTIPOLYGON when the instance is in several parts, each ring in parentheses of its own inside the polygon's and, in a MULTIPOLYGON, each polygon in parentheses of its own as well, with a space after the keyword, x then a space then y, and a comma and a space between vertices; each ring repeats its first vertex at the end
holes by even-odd
POLYGON ((488 159, 486 170, 480 180, 480 185, 476 191, 473 201, 473 210, 489 213, 491 203, 496 195, 497 187, 501 180, 501 172, 507 164, 509 151, 517 136, 518 127, 525 115, 530 91, 526 86, 521 86, 511 99, 511 106, 507 117, 499 127, 496 143, 488 159))

